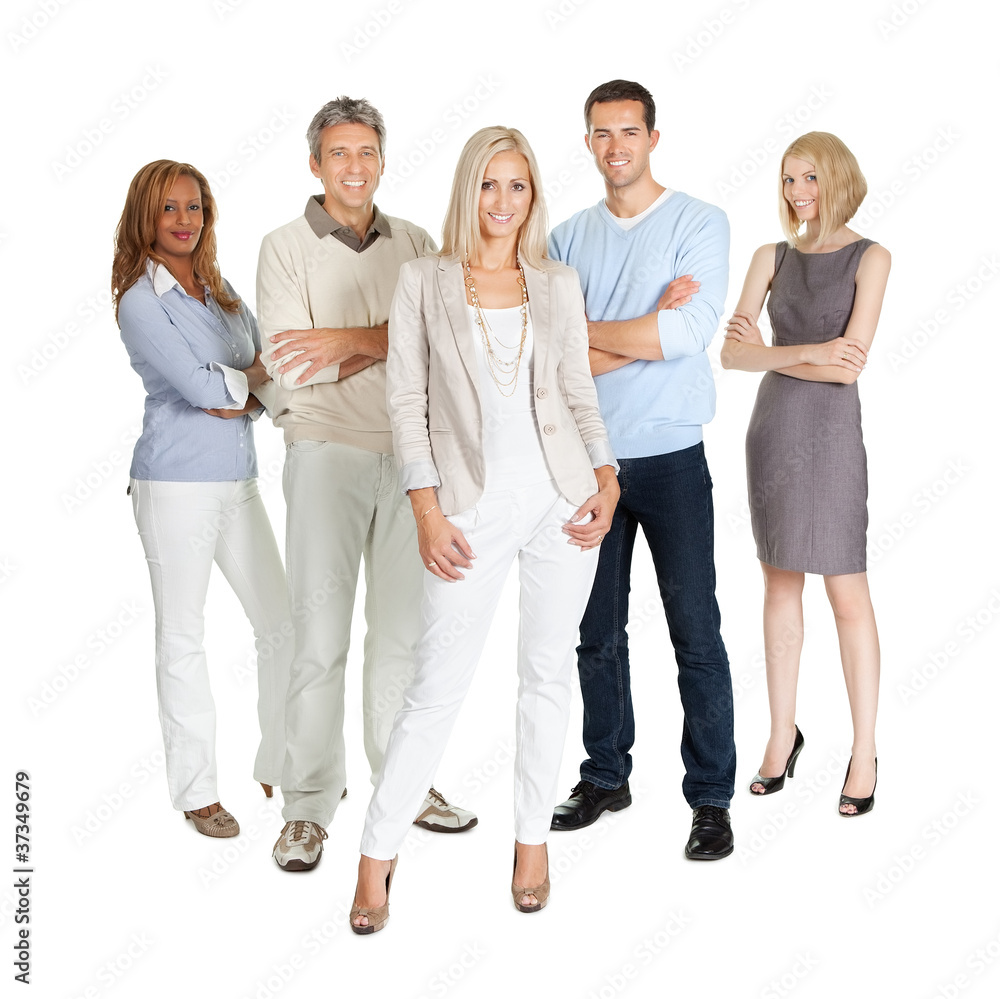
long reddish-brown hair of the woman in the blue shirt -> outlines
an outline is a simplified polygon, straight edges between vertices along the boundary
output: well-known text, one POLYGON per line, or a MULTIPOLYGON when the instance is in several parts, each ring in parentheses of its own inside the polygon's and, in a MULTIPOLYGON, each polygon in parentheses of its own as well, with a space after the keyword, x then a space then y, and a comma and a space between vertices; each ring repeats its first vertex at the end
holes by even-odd
POLYGON ((238 312, 240 300, 230 295, 222 283, 216 261, 215 222, 218 213, 215 199, 204 174, 190 163, 175 160, 154 160, 147 163, 129 184, 125 207, 115 230, 115 256, 111 264, 111 297, 115 303, 115 318, 122 295, 146 272, 146 261, 164 264, 153 251, 156 226, 163 215, 170 189, 178 177, 191 177, 201 188, 202 230, 191 262, 200 281, 208 285, 212 297, 227 312, 238 312))

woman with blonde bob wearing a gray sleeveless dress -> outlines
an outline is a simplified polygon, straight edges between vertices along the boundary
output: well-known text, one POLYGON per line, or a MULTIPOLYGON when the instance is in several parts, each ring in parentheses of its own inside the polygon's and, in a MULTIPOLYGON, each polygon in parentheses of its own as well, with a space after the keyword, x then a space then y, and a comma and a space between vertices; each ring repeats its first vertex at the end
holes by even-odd
POLYGON ((764 572, 771 734, 752 794, 794 775, 805 573, 823 576, 854 726, 840 814, 875 802, 879 644, 868 592, 868 481, 858 376, 875 336, 889 253, 847 227, 867 184, 835 135, 809 132, 785 151, 780 215, 788 237, 760 247, 726 327, 722 365, 766 372, 747 430, 747 485, 764 572), (767 346, 757 317, 768 298, 767 346), (789 635, 793 637, 789 639, 789 635))

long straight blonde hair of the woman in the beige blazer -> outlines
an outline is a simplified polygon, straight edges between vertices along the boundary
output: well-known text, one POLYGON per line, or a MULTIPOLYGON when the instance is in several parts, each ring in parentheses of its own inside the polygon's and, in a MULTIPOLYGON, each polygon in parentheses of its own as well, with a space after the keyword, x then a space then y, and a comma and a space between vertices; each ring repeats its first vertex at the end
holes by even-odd
POLYGON ((550 266, 546 240, 548 212, 542 197, 535 154, 516 128, 491 125, 481 128, 465 144, 455 167, 451 198, 444 217, 441 256, 471 260, 479 249, 479 195, 490 160, 497 153, 520 153, 528 161, 531 182, 531 212, 518 233, 517 253, 522 262, 536 269, 550 266))

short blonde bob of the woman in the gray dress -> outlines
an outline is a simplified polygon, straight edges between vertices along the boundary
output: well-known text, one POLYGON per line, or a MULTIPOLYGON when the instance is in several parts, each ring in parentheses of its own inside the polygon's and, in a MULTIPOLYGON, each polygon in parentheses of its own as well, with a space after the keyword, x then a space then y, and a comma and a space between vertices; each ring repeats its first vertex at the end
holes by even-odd
POLYGON ((781 157, 778 199, 781 228, 788 242, 798 245, 801 223, 795 209, 785 199, 785 160, 789 156, 812 163, 819 184, 819 242, 832 236, 854 217, 868 193, 868 183, 861 173, 854 153, 830 132, 806 132, 800 135, 781 157))

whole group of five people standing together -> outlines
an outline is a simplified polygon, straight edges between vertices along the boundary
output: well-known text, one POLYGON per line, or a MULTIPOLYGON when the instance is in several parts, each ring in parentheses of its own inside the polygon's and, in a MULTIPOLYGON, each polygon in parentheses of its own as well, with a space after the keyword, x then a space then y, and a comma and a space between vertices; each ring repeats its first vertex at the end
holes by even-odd
MULTIPOLYGON (((264 238, 256 320, 219 273, 215 203, 193 167, 144 167, 119 224, 113 293, 147 392, 129 491, 153 586, 174 807, 206 835, 239 831, 219 801, 202 645, 214 560, 256 637, 254 776, 284 798, 273 856, 287 871, 316 866, 346 794, 344 679, 363 561, 375 791, 357 933, 388 919, 411 823, 476 824, 433 781, 515 559, 517 908, 546 905, 550 829, 631 804, 626 624, 639 527, 684 708, 685 854, 733 851, 733 696, 702 442, 715 408, 706 348, 725 301, 728 222, 653 179, 659 133, 644 87, 597 87, 585 121, 602 201, 549 233, 526 139, 481 129, 459 158, 439 251, 423 229, 375 206, 382 116, 364 100, 331 101, 307 133, 323 194, 264 238), (252 421, 265 411, 285 435, 284 570, 255 482, 252 421), (556 805, 574 662, 588 756, 556 805)), ((768 372, 747 468, 772 724, 750 791, 779 790, 802 749, 801 591, 804 573, 819 573, 854 721, 840 811, 857 815, 874 801, 878 639, 854 382, 889 256, 846 227, 865 187, 840 140, 803 136, 781 169, 788 241, 754 255, 722 355, 727 367, 768 372), (768 295, 772 347, 756 325, 768 295), (777 641, 789 622, 797 644, 777 641)))

